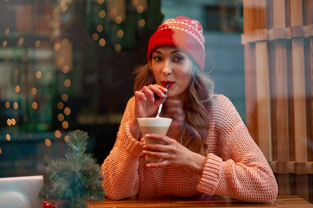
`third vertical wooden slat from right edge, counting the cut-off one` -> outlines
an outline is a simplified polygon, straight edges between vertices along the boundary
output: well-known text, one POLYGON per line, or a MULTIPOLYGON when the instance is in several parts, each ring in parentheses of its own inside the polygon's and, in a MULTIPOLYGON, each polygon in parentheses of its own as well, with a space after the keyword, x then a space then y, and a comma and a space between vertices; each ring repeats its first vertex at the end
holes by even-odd
POLYGON ((287 61, 285 42, 285 1, 273 0, 273 38, 274 38, 274 68, 272 117, 273 139, 276 141, 278 161, 277 178, 279 195, 290 195, 290 177, 287 170, 289 161, 289 137, 288 137, 288 87, 287 87, 287 61))

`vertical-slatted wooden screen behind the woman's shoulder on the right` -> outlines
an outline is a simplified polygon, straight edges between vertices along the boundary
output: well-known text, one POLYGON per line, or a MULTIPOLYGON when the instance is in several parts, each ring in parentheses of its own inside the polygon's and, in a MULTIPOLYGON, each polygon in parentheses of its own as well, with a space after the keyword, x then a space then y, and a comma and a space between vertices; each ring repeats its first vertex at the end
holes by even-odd
POLYGON ((243 0, 246 126, 279 195, 313 201, 313 0, 243 0))

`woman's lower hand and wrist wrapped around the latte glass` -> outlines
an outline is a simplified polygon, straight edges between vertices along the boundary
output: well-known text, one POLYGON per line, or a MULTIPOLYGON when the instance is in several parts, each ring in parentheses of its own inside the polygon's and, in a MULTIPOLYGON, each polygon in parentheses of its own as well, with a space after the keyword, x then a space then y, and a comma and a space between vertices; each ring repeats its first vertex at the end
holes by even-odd
POLYGON ((154 158, 163 159, 158 163, 147 164, 150 168, 174 166, 186 168, 198 175, 202 174, 206 157, 188 150, 176 140, 161 134, 148 134, 149 139, 162 141, 163 144, 145 144, 143 154, 154 158), (157 151, 157 152, 154 152, 157 151))

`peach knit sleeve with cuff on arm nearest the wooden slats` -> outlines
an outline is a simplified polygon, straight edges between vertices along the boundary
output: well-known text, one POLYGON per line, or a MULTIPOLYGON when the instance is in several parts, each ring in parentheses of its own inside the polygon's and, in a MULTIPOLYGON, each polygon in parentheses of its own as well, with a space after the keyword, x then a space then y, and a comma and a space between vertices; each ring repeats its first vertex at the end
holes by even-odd
POLYGON ((207 145, 212 151, 197 190, 245 202, 273 203, 278 194, 273 172, 232 103, 217 96, 209 116, 207 145))

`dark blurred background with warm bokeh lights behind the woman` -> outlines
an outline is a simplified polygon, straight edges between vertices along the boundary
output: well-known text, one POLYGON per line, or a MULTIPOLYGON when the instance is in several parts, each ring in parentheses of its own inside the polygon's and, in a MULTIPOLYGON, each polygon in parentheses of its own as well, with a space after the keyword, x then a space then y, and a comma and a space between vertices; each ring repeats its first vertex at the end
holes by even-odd
POLYGON ((158 24, 178 15, 203 25, 205 70, 244 121, 241 0, 0 0, 0 177, 45 175, 75 129, 101 164, 133 67, 158 24))

